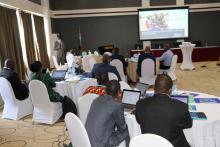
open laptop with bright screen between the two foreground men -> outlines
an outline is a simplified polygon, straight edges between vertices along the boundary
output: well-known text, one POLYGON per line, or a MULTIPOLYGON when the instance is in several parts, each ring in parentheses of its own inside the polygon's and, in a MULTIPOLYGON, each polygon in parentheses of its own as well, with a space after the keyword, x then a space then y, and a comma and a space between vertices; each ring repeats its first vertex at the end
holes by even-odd
POLYGON ((135 109, 137 101, 140 100, 141 91, 124 89, 122 94, 122 105, 126 110, 135 109))

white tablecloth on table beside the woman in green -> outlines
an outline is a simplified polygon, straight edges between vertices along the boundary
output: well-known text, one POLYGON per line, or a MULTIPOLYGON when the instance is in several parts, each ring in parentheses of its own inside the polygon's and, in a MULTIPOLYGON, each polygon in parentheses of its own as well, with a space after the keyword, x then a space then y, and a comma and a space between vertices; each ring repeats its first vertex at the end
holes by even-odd
POLYGON ((76 105, 78 105, 78 98, 82 96, 83 92, 89 86, 97 85, 96 79, 87 78, 78 82, 56 82, 56 88, 54 89, 62 96, 70 97, 76 105))

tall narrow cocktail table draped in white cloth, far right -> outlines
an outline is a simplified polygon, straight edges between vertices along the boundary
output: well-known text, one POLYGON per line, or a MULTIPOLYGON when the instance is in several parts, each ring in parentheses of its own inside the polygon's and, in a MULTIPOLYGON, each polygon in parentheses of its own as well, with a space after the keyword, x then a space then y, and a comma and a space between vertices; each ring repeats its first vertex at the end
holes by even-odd
POLYGON ((183 62, 180 66, 182 70, 193 70, 195 67, 192 64, 192 51, 195 47, 195 44, 186 43, 184 42, 182 45, 179 45, 182 55, 183 55, 183 62))

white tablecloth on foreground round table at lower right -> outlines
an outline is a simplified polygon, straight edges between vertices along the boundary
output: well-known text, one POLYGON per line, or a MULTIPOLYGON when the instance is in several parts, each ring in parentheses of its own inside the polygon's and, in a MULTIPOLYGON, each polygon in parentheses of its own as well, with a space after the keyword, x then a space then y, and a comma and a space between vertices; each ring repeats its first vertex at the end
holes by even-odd
MULTIPOLYGON (((197 94, 199 95, 195 98, 217 98, 203 93, 197 94)), ((196 105, 196 111, 205 112, 208 119, 193 120, 193 127, 184 130, 187 141, 192 147, 220 147, 220 104, 195 103, 193 105, 196 105)), ((125 121, 131 138, 141 134, 134 115, 125 114, 125 121)))

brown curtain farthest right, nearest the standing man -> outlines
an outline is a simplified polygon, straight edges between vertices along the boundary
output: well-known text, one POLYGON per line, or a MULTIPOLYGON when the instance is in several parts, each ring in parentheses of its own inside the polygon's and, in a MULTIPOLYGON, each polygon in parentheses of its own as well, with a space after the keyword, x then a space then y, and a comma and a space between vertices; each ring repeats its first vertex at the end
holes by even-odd
POLYGON ((36 30, 36 36, 38 42, 40 61, 42 62, 44 68, 50 68, 49 57, 47 54, 47 45, 46 45, 43 17, 34 15, 34 24, 35 24, 35 30, 36 30))

